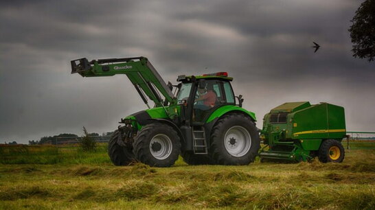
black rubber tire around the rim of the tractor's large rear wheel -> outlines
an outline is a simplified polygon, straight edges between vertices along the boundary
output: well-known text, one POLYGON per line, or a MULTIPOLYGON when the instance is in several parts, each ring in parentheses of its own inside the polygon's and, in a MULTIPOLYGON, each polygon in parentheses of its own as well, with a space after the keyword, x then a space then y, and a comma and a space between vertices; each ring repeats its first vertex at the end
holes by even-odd
MULTIPOLYGON (((227 136, 229 137, 229 135, 227 136)), ((234 137, 232 137, 234 138, 234 137)), ((237 143, 234 139, 234 144, 237 143)), ((247 147, 247 146, 246 146, 247 147)), ((240 113, 231 113, 221 117, 216 122, 212 129, 210 137, 209 156, 220 165, 249 165, 253 162, 255 156, 258 156, 258 150, 260 149, 260 138, 258 128, 252 119, 246 115, 240 113), (225 145, 225 136, 229 130, 238 128, 240 131, 247 133, 250 138, 249 148, 245 148, 243 155, 235 156, 230 154, 227 146, 225 145)))

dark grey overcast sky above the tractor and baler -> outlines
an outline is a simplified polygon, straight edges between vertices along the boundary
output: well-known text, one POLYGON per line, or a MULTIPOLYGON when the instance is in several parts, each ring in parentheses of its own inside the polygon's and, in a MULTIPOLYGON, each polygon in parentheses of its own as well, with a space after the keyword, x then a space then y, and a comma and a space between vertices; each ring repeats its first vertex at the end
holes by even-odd
POLYGON ((348 32, 361 2, 1 1, 0 143, 107 132, 146 108, 126 76, 71 75, 82 57, 146 56, 166 82, 227 71, 259 128, 271 108, 310 101, 374 131, 375 63, 352 57, 348 32))

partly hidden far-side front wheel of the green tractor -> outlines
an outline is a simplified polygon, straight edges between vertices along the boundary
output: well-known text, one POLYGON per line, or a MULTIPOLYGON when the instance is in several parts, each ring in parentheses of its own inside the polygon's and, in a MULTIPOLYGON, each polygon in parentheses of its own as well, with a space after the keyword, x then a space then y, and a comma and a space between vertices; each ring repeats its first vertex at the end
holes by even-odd
POLYGON ((132 147, 125 147, 117 143, 120 133, 115 130, 108 143, 108 154, 114 165, 130 165, 135 162, 132 147))

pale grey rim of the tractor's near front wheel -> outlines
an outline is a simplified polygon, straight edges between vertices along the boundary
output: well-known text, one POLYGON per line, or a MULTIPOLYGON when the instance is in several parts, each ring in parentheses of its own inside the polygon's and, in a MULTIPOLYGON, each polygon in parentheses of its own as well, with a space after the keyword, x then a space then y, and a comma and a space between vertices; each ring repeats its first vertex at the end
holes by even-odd
POLYGON ((167 135, 155 135, 150 141, 150 152, 155 159, 166 159, 172 153, 172 141, 167 135))

